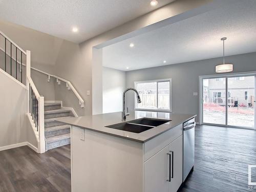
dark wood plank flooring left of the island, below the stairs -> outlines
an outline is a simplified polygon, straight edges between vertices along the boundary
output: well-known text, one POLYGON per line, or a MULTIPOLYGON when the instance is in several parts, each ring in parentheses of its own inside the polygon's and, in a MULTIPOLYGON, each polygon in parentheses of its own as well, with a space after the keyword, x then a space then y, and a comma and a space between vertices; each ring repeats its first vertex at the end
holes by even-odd
POLYGON ((28 146, 0 152, 0 191, 71 191, 70 145, 44 154, 28 146))

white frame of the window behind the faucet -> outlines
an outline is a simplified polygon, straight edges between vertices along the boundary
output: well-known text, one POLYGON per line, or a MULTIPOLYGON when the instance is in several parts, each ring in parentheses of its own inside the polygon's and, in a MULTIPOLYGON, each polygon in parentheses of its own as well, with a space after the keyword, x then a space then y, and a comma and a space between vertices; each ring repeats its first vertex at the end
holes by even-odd
MULTIPOLYGON (((148 83, 148 82, 167 82, 169 81, 169 103, 170 103, 170 109, 169 110, 161 110, 161 109, 142 109, 142 108, 137 108, 137 102, 136 102, 136 95, 134 94, 134 109, 138 111, 156 111, 156 112, 172 112, 172 79, 157 79, 157 80, 146 80, 146 81, 135 81, 134 82, 134 89, 136 89, 136 84, 137 83, 148 83)), ((158 105, 158 86, 157 86, 157 105, 158 105)))

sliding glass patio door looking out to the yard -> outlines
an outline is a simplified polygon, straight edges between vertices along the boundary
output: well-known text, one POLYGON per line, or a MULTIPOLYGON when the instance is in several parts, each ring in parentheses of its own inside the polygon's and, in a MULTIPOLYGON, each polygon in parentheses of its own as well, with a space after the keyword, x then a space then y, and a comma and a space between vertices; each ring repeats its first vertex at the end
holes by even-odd
POLYGON ((202 122, 255 128, 255 75, 202 78, 202 122))

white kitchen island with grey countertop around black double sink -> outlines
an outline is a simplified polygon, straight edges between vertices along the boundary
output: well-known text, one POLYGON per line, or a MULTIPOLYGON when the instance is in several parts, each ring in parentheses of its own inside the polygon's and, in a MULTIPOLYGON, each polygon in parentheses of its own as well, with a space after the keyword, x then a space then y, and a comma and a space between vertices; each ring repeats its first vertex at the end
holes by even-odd
POLYGON ((146 129, 141 133, 123 131, 121 112, 59 120, 72 125, 72 191, 177 191, 183 182, 183 123, 194 117, 132 111, 126 125, 146 129), (152 119, 157 126, 147 124, 152 119))

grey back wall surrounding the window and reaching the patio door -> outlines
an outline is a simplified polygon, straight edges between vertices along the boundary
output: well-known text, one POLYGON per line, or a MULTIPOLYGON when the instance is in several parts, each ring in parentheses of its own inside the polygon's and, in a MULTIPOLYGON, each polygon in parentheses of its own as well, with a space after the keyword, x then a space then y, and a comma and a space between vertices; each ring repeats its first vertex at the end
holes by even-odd
MULTIPOLYGON (((256 52, 228 56, 225 60, 233 63, 233 72, 256 71, 256 52)), ((222 58, 213 58, 129 71, 126 72, 126 87, 134 87, 134 81, 172 78, 173 112, 198 115, 199 97, 193 96, 193 92, 199 92, 199 76, 216 74, 215 66, 221 62, 222 58)), ((133 94, 127 94, 126 103, 134 109, 133 94)))

